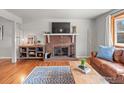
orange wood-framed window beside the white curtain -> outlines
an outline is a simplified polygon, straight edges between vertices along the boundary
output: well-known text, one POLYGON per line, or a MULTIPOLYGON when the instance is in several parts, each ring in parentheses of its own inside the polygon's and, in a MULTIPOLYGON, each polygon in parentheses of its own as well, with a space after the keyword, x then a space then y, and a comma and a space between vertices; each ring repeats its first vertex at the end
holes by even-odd
POLYGON ((118 47, 124 47, 124 13, 112 16, 111 22, 113 44, 118 47))

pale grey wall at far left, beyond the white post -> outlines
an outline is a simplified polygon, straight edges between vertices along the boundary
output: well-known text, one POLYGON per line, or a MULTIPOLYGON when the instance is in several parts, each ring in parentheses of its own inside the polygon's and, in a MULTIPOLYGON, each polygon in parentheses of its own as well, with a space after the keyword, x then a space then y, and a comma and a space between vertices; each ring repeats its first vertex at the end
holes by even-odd
POLYGON ((0 17, 0 25, 4 26, 3 40, 0 40, 0 57, 12 56, 13 22, 0 17))

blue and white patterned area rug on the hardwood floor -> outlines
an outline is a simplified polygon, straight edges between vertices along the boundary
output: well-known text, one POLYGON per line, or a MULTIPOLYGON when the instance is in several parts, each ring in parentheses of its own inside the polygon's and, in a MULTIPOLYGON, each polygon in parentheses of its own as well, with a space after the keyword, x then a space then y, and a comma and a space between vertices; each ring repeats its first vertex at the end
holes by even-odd
POLYGON ((69 66, 37 66, 23 84, 74 84, 69 66))

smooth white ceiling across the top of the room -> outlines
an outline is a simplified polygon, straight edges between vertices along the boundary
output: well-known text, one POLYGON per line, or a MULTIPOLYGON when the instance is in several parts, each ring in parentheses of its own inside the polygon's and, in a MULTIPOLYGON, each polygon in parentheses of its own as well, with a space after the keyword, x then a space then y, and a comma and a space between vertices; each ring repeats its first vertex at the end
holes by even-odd
POLYGON ((7 9, 7 11, 23 18, 23 20, 39 18, 83 19, 95 18, 110 9, 7 9))

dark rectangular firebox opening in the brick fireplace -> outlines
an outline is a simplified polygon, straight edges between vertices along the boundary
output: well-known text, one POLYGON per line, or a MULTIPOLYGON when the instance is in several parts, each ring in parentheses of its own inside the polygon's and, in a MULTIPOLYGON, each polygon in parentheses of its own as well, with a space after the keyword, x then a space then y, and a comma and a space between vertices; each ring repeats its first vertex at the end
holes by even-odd
POLYGON ((69 56, 69 48, 68 47, 55 47, 54 56, 69 56))

